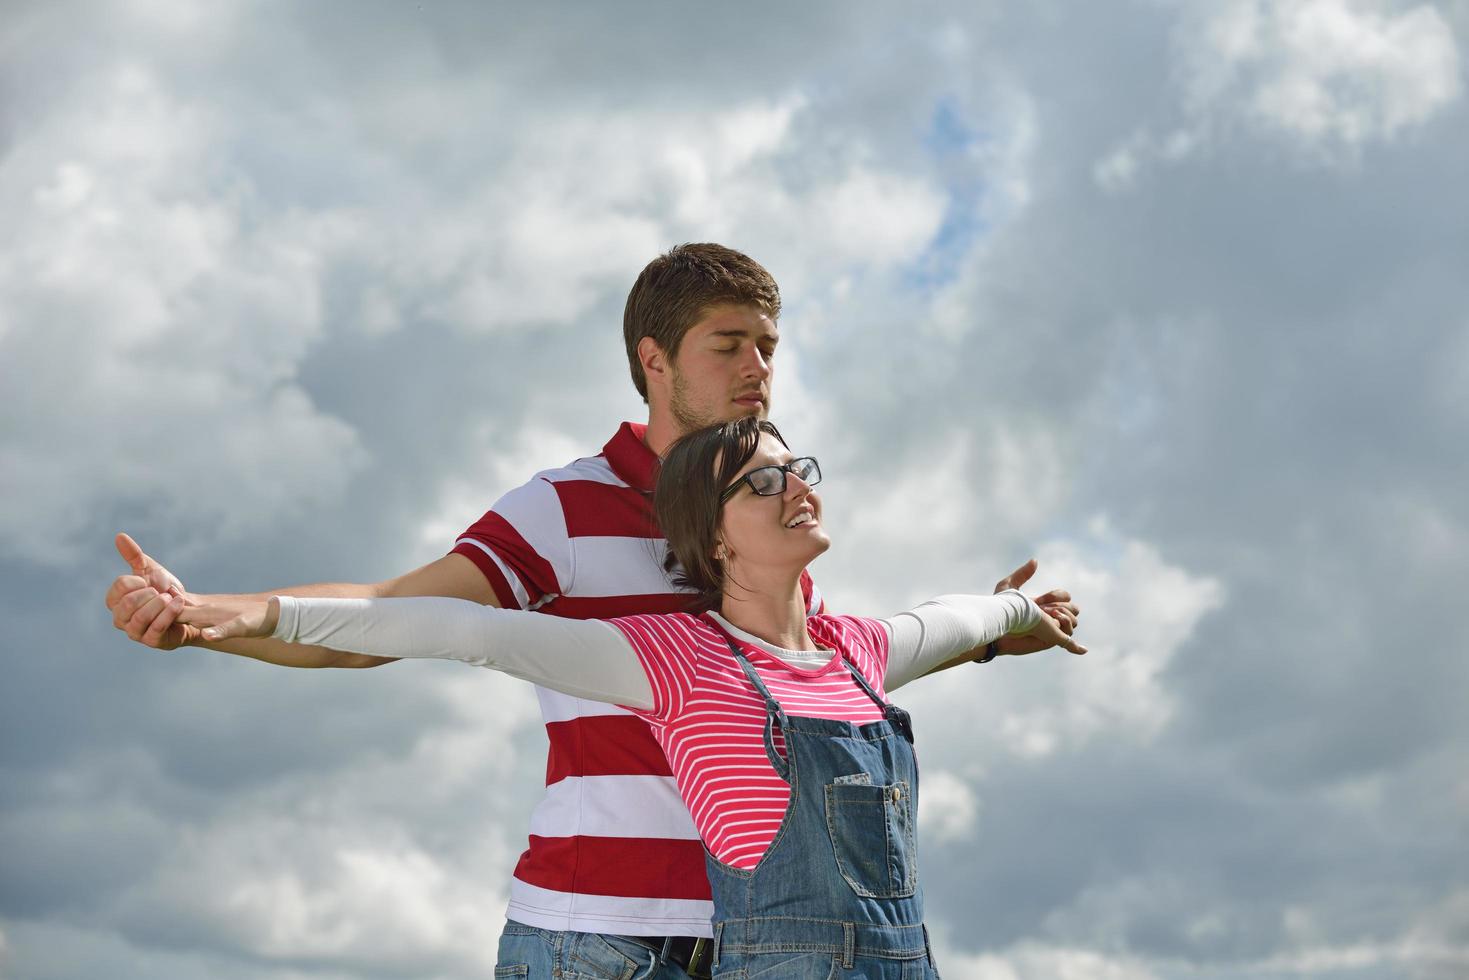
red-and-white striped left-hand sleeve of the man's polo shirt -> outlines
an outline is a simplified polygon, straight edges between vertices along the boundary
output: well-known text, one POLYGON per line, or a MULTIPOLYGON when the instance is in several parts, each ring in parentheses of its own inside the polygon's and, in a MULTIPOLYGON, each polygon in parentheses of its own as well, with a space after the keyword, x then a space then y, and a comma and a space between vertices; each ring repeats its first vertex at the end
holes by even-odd
POLYGON ((555 488, 539 476, 495 501, 452 554, 474 563, 507 610, 533 610, 570 591, 566 514, 555 488))

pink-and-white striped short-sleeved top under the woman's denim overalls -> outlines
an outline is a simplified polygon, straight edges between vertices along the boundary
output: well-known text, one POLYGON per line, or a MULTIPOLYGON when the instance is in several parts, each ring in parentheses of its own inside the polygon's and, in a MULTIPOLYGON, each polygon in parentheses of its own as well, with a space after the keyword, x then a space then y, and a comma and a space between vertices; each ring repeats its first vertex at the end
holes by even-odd
MULTIPOLYGON (((754 868, 776 839, 790 786, 765 755, 765 702, 726 633, 711 617, 689 614, 633 616, 613 626, 627 636, 648 674, 654 707, 638 714, 654 723, 710 852, 736 868, 754 868)), ((812 616, 806 629, 818 646, 837 651, 820 667, 789 664, 742 639, 736 644, 786 714, 853 724, 881 720, 881 708, 848 664, 883 693, 889 644, 883 623, 812 616)), ((779 729, 774 743, 783 755, 779 729)))

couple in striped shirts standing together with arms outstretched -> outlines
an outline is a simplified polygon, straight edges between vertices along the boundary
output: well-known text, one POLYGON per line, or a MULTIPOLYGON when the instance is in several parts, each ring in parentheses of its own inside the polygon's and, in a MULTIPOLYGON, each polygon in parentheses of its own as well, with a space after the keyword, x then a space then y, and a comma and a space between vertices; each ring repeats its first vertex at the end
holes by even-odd
POLYGON ((646 426, 376 585, 197 595, 120 535, 113 620, 151 646, 535 682, 548 786, 495 976, 936 976, 912 729, 887 695, 996 654, 1084 652, 1077 608, 1012 588, 1027 563, 995 595, 827 614, 806 573, 830 545, 820 463, 764 420, 779 313, 749 257, 674 248, 624 317, 646 426))

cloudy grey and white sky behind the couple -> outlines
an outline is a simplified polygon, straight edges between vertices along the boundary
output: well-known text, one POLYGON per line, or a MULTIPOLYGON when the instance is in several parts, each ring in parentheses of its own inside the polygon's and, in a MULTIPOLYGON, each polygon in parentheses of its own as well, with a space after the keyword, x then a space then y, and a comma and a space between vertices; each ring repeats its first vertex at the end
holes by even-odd
POLYGON ((7 0, 0 977, 488 976, 529 689, 145 651, 112 535, 438 557, 639 417, 680 241, 783 287, 834 608, 1084 607, 903 692, 948 977, 1469 974, 1466 65, 1466 0, 7 0))

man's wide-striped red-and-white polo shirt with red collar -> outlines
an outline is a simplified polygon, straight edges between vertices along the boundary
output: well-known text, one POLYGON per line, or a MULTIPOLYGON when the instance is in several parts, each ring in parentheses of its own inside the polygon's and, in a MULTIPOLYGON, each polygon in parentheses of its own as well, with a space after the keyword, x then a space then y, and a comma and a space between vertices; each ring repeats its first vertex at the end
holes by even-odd
MULTIPOLYGON (((613 619, 687 608, 664 573, 645 426, 623 423, 595 457, 545 470, 466 530, 504 608, 613 619)), ((821 599, 802 585, 812 611, 821 599)), ((507 915, 527 926, 710 936, 704 848, 648 724, 623 708, 536 688, 551 742, 507 915)))

